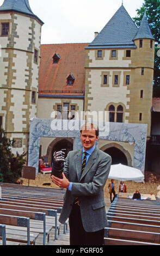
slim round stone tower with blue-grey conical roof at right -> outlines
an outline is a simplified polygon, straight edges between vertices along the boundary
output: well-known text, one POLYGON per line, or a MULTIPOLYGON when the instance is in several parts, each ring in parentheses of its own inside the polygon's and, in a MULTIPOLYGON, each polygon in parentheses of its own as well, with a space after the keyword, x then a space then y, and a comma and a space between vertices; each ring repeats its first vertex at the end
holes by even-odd
POLYGON ((130 89, 129 123, 147 124, 147 136, 150 136, 155 39, 146 13, 133 41, 137 48, 131 56, 131 66, 134 68, 132 68, 133 86, 128 88, 130 89))

